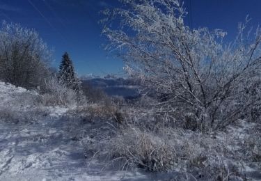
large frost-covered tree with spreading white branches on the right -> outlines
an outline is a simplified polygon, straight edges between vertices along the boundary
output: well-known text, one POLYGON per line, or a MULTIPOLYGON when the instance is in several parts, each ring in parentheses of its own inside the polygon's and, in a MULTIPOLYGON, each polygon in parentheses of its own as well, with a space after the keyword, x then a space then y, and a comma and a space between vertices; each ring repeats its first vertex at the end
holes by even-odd
POLYGON ((246 31, 248 18, 235 40, 224 43, 224 31, 186 26, 179 0, 122 3, 104 10, 106 48, 118 52, 130 76, 164 97, 151 105, 156 111, 175 120, 189 116, 206 131, 260 106, 261 30, 246 31))

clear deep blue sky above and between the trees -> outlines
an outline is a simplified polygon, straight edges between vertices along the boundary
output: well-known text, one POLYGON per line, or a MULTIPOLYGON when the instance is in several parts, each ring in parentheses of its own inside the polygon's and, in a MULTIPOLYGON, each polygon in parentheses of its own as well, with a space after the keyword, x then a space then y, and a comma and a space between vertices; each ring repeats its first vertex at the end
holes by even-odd
MULTIPOLYGON (((251 26, 261 24, 260 0, 185 0, 187 23, 193 28, 223 29, 235 37, 246 15, 251 26)), ((35 29, 54 48, 53 66, 70 54, 79 75, 122 74, 122 62, 104 51, 100 10, 118 6, 117 0, 0 0, 0 19, 35 29)))

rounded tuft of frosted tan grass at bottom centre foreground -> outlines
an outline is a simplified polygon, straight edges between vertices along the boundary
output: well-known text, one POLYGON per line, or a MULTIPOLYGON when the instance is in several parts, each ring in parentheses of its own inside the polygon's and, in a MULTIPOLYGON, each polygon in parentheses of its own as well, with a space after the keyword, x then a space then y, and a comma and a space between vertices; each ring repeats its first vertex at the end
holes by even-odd
POLYGON ((176 162, 173 144, 139 129, 124 129, 111 140, 110 156, 124 169, 138 166, 148 171, 170 171, 176 162))

